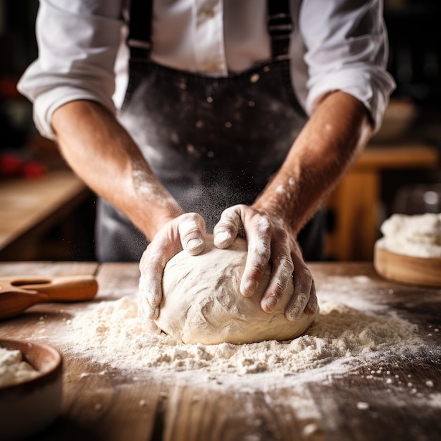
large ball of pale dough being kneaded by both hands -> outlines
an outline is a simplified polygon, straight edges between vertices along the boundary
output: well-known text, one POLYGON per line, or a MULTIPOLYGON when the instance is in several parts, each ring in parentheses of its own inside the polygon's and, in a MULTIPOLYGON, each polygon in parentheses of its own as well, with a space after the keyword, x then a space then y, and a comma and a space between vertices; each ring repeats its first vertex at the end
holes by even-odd
MULTIPOLYGON (((275 311, 260 306, 271 267, 253 297, 240 294, 240 278, 247 259, 247 243, 237 238, 228 249, 213 246, 198 256, 186 251, 168 261, 163 275, 163 299, 156 324, 163 332, 187 344, 254 343, 290 340, 302 335, 315 316, 296 321, 285 318, 290 294, 285 294, 275 311)), ((287 290, 294 291, 292 279, 287 290)))

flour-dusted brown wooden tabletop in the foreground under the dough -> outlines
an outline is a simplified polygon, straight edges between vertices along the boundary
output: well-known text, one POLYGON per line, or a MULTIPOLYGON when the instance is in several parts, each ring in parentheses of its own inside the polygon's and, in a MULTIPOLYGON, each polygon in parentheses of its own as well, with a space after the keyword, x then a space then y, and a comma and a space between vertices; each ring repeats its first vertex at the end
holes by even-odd
MULTIPOLYGON (((378 375, 380 361, 348 375, 330 371, 320 381, 299 388, 296 373, 282 385, 263 388, 254 374, 240 381, 250 386, 234 393, 210 383, 167 383, 161 373, 137 377, 127 371, 100 375, 87 355, 64 359, 62 414, 35 440, 419 440, 434 441, 441 433, 441 290, 397 285, 378 278, 371 263, 311 264, 321 300, 332 300, 330 280, 340 287, 338 300, 378 306, 418 324, 425 343, 418 356, 389 354, 387 366, 402 385, 387 386, 378 375), (361 282, 360 282, 361 280, 361 282), (81 373, 92 374, 81 378, 81 373), (87 380, 87 381, 86 381, 87 380), (427 381, 430 380, 430 387, 427 381), (408 382, 412 387, 408 387, 408 382), (412 390, 418 394, 412 394, 412 390), (197 397, 197 399, 195 398, 197 397), (140 400, 146 399, 140 406, 140 400), (99 411, 95 403, 101 403, 99 411), (368 408, 357 403, 368 402, 368 408), (315 417, 303 415, 314 409, 315 417)), ((111 302, 137 293, 138 269, 132 263, 1 263, 0 275, 96 274, 96 302, 111 302)), ((89 304, 63 304, 66 314, 89 304)), ((66 333, 59 304, 35 305, 22 316, 0 323, 0 337, 37 337, 44 315, 46 335, 57 347, 66 333)), ((384 362, 384 361, 383 361, 384 362)), ((101 372, 102 373, 102 372, 101 372)), ((397 380, 398 381, 398 380, 397 380)), ((42 405, 44 405, 42 403, 42 405)))

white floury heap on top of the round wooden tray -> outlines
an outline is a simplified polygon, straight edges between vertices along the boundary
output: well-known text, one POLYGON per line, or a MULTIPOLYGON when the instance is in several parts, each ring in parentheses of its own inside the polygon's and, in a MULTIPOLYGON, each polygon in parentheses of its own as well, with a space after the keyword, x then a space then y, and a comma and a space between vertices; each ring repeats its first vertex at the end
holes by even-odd
POLYGON ((380 228, 378 242, 396 254, 414 257, 441 257, 441 213, 408 216, 394 214, 380 228))

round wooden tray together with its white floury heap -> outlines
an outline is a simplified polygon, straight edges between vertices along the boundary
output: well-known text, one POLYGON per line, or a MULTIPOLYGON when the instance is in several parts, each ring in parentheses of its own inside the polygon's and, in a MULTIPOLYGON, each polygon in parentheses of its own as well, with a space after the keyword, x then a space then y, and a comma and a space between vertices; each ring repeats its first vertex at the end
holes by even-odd
POLYGON ((380 227, 373 264, 387 280, 441 287, 441 213, 393 214, 380 227))

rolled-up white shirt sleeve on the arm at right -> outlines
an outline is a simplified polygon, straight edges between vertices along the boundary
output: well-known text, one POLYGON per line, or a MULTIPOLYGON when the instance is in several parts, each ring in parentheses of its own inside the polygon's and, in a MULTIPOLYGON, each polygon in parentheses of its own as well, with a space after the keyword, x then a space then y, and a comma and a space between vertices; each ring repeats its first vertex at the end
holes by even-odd
POLYGON ((380 0, 309 0, 299 14, 306 45, 306 111, 342 90, 367 108, 377 132, 395 82, 387 73, 387 32, 380 0))

